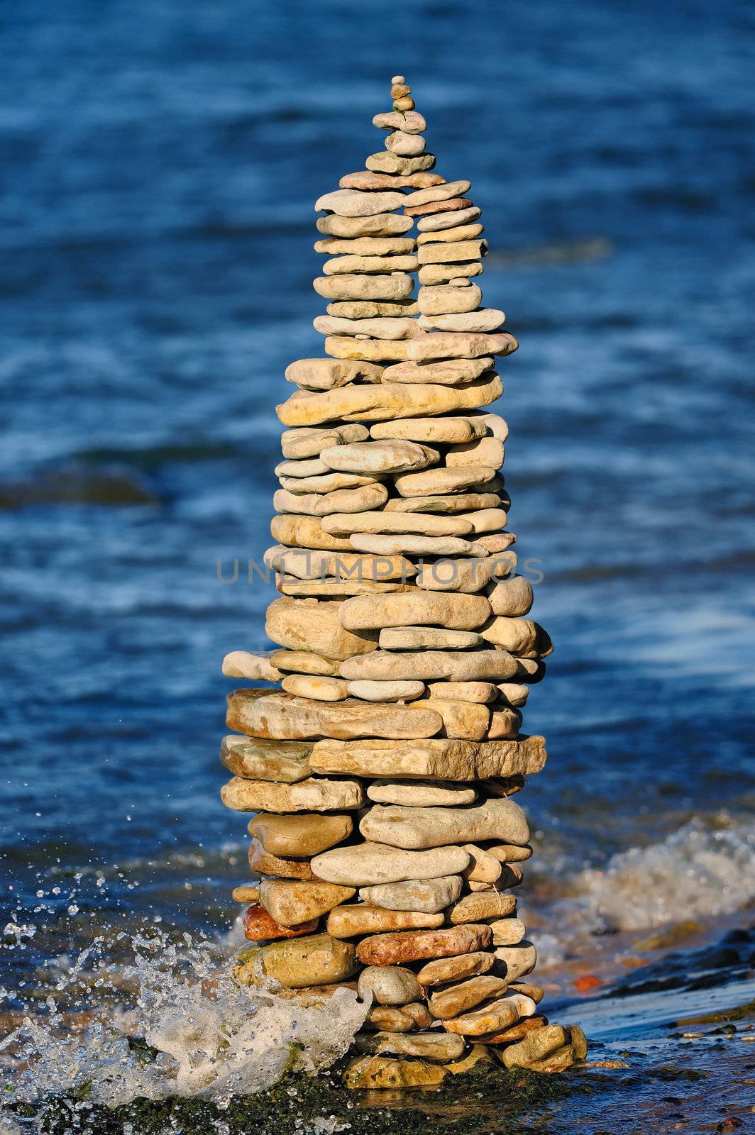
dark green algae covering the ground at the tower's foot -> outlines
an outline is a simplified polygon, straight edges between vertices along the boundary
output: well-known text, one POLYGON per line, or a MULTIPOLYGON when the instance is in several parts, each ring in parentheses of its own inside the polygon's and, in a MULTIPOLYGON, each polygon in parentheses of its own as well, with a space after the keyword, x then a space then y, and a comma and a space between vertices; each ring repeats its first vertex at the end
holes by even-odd
MULTIPOLYGON (((319 1076, 288 1074, 268 1091, 235 1096, 227 1107, 173 1096, 109 1109, 90 1105, 78 1093, 75 1100, 47 1100, 34 1112, 44 1135, 321 1135, 342 1129, 349 1135, 395 1135, 399 1124, 411 1124, 412 1135, 511 1135, 528 1129, 522 1126, 528 1116, 597 1086, 569 1074, 477 1066, 447 1077, 437 1088, 363 1092, 343 1086, 344 1066, 345 1060, 319 1076)), ((20 1110, 17 1115, 20 1118, 20 1110)))

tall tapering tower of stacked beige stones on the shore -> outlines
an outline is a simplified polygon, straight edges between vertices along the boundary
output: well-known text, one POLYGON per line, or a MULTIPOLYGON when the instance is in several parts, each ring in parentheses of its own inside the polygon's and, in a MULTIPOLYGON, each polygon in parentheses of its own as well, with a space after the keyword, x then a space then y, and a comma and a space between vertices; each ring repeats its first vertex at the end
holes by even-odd
POLYGON ((486 409, 503 393, 494 356, 518 343, 480 306, 470 183, 430 173, 403 76, 391 94, 385 150, 316 204, 326 358, 291 363, 277 407, 266 630, 280 648, 224 662, 280 683, 228 698, 223 800, 255 813, 259 878, 234 892, 257 943, 235 974, 307 1004, 371 998, 354 1087, 586 1054, 538 1008, 512 893, 531 855, 512 796, 545 763, 521 707, 552 649, 505 529, 507 427, 486 409))

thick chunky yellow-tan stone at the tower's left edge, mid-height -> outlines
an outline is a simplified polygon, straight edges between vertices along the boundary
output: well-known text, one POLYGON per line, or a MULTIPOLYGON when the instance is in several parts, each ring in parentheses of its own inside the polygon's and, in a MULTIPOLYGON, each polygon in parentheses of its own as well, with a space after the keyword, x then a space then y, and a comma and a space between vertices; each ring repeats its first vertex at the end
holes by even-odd
POLYGON ((274 599, 267 609, 265 632, 274 642, 291 650, 309 649, 336 661, 375 650, 375 632, 360 631, 355 634, 343 625, 343 603, 320 603, 317 599, 274 599))

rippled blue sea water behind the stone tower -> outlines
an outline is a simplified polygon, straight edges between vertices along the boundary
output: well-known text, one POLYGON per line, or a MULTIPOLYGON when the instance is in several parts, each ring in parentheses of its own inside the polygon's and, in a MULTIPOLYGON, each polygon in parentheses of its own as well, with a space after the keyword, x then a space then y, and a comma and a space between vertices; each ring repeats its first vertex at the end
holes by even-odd
MULTIPOLYGON (((753 840, 754 25, 693 0, 5 10, 0 848, 9 914, 44 894, 15 968, 103 909, 236 913, 219 666, 266 645, 272 592, 216 565, 271 543, 283 372, 321 350, 312 203, 381 148, 396 72, 521 339, 511 528, 556 644, 526 713, 551 753, 530 906, 568 953, 547 903, 649 848, 666 920, 745 918, 752 873, 706 874, 694 833, 732 864, 753 840)), ((664 922, 627 888, 632 926, 664 922)))

